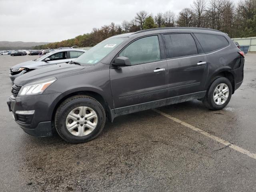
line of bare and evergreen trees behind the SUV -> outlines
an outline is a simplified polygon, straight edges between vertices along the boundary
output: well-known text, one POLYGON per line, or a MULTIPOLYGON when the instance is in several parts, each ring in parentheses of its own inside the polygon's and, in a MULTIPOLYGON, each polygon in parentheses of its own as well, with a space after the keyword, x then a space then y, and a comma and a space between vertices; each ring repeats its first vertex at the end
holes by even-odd
POLYGON ((35 46, 35 49, 70 47, 90 47, 117 34, 160 27, 202 27, 220 30, 231 38, 256 36, 256 0, 194 0, 188 8, 178 14, 169 10, 155 16, 142 10, 130 20, 121 24, 111 23, 101 28, 93 28, 91 33, 75 38, 35 46))

